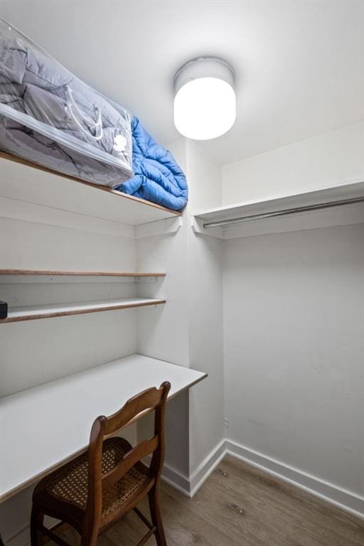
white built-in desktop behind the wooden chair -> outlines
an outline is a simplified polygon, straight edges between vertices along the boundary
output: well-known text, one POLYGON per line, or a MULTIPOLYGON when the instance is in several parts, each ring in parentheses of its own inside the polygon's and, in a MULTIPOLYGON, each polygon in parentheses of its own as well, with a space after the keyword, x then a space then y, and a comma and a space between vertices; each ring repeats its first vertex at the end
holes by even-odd
POLYGON ((0 501, 38 481, 88 444, 92 422, 130 397, 171 382, 168 400, 205 373, 131 355, 0 399, 0 501))

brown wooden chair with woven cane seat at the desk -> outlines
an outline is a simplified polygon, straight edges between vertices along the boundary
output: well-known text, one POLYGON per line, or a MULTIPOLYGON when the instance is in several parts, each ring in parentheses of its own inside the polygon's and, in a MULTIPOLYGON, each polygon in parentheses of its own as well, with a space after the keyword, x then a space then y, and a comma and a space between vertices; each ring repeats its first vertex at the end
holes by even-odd
MULTIPOLYGON (((59 546, 67 542, 45 528, 44 515, 72 525, 81 535, 81 546, 95 546, 97 536, 131 510, 149 527, 138 546, 155 535, 166 546, 161 520, 159 483, 165 452, 165 409, 170 383, 131 398, 119 412, 95 419, 87 451, 46 476, 33 492, 31 546, 40 546, 43 535, 59 546), (110 435, 154 410, 154 437, 132 447, 124 438, 110 435), (105 437, 109 437, 105 439, 105 437), (152 455, 150 466, 141 459, 152 455), (137 505, 148 496, 151 523, 137 505)), ((57 424, 55 424, 57 426, 57 424)), ((128 545, 129 546, 129 545, 128 545)))

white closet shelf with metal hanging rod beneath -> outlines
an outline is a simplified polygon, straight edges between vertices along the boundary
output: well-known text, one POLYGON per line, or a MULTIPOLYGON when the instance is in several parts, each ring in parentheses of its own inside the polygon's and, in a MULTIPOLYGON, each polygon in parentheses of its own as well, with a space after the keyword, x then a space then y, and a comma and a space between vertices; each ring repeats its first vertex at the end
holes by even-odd
POLYGON ((221 239, 364 223, 364 181, 213 208, 193 220, 197 232, 221 239))

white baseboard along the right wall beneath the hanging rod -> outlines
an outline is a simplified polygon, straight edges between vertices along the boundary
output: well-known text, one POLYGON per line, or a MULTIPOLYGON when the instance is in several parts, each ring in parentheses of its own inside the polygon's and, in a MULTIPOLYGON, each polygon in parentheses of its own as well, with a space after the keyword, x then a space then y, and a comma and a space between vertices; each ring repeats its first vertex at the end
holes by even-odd
POLYGON ((293 486, 304 489, 312 495, 358 516, 358 518, 364 518, 364 497, 358 496, 352 491, 347 491, 333 485, 333 483, 328 483, 316 476, 311 476, 292 466, 253 451, 246 446, 236 444, 231 440, 226 441, 226 452, 237 457, 237 459, 242 459, 242 461, 258 469, 291 483, 293 486))

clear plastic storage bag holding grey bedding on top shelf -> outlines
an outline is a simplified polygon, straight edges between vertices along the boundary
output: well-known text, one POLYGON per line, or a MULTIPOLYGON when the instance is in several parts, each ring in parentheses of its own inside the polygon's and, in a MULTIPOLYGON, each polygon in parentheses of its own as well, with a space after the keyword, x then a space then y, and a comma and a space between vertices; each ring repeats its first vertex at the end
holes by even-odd
POLYGON ((0 18, 0 149, 102 186, 132 171, 132 115, 0 18))

